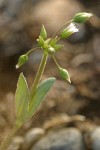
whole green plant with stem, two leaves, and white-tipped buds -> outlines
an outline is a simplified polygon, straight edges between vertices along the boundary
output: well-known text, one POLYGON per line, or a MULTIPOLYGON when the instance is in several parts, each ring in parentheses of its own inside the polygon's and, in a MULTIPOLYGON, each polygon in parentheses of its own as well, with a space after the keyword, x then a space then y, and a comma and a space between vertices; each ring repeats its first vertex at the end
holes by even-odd
POLYGON ((16 68, 20 68, 22 65, 24 65, 28 61, 29 55, 34 50, 41 49, 43 51, 43 56, 31 89, 28 88, 28 84, 23 73, 19 75, 15 93, 16 120, 12 131, 1 144, 0 150, 5 150, 9 146, 12 137, 16 134, 18 129, 21 128, 21 126, 35 114, 41 102, 44 100, 45 96, 53 86, 56 80, 54 77, 50 77, 40 83, 40 79, 43 75, 49 55, 54 60, 61 78, 71 83, 68 71, 60 67, 55 58, 55 53, 61 50, 61 48, 64 46, 59 44, 60 39, 68 38, 75 32, 79 31, 76 28, 75 23, 84 23, 91 16, 91 13, 77 13, 72 20, 62 25, 51 38, 48 38, 47 31, 44 25, 42 25, 40 35, 37 39, 38 47, 29 50, 26 54, 19 57, 16 68))

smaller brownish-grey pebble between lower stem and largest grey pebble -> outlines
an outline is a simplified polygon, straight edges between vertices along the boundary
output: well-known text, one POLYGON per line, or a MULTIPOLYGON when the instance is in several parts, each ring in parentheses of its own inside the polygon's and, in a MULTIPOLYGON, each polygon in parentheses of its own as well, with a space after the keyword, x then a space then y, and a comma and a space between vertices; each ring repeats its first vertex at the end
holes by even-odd
POLYGON ((34 144, 44 134, 45 130, 42 128, 32 128, 31 130, 29 130, 24 138, 23 149, 29 150, 31 145, 34 144))

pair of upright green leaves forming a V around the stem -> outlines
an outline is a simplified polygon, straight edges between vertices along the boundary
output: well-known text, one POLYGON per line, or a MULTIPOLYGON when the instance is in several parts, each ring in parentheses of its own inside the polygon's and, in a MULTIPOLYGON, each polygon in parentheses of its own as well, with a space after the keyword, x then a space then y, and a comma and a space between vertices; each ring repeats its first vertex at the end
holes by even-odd
POLYGON ((31 118, 37 108, 51 89, 55 82, 55 78, 51 77, 43 81, 37 88, 34 97, 30 97, 28 85, 23 73, 20 74, 15 93, 15 109, 17 122, 23 124, 27 119, 31 118))

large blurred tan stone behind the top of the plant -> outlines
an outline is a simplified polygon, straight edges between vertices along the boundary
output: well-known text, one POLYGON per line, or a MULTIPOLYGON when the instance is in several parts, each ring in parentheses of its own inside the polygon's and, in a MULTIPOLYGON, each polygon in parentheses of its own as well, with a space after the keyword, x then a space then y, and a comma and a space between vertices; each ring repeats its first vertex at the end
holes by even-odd
POLYGON ((81 4, 75 0, 45 0, 38 3, 31 14, 35 22, 43 23, 47 30, 53 33, 82 10, 81 4))

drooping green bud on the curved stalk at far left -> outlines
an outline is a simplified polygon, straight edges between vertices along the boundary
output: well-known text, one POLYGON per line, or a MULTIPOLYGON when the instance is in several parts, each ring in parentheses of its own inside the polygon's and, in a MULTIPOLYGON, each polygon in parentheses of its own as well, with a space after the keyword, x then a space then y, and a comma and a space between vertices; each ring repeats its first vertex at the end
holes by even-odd
POLYGON ((28 56, 25 55, 21 55, 18 59, 18 63, 16 65, 16 69, 20 68, 23 64, 25 64, 28 60, 28 56))

